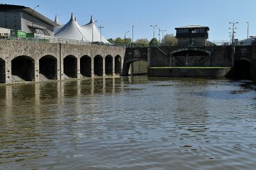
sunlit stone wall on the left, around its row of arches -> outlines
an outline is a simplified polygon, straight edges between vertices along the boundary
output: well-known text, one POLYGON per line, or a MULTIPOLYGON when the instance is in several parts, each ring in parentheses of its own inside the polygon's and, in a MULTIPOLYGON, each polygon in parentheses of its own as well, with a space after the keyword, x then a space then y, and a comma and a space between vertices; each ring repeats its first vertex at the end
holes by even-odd
MULTIPOLYGON (((5 63, 5 83, 12 83, 12 61, 16 57, 26 56, 32 60, 35 70, 35 77, 33 81, 40 81, 40 67, 39 60, 45 56, 52 56, 56 59, 57 78, 56 80, 63 80, 65 78, 63 72, 63 59, 67 56, 73 56, 77 60, 76 77, 80 78, 80 59, 84 55, 88 55, 92 59, 92 77, 93 75, 93 59, 100 55, 103 59, 103 75, 105 74, 105 57, 111 56, 113 58, 113 73, 115 73, 115 57, 121 57, 121 64, 124 62, 124 48, 116 46, 99 46, 99 45, 69 45, 61 43, 38 43, 30 41, 10 41, 0 40, 0 59, 5 63)), ((2 67, 2 66, 1 66, 2 67)), ((122 70, 122 69, 121 69, 122 70)), ((122 74, 122 73, 120 73, 122 74)))

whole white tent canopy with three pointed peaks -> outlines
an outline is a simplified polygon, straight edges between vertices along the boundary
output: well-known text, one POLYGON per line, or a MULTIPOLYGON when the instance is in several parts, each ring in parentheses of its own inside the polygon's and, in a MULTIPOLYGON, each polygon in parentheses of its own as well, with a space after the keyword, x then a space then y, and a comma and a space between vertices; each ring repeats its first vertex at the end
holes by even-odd
POLYGON ((65 38, 65 39, 77 39, 83 41, 101 41, 102 43, 109 43, 109 41, 101 35, 100 38, 100 31, 97 29, 95 22, 91 16, 91 20, 88 24, 80 26, 76 18, 72 13, 69 22, 65 25, 60 24, 58 22, 58 18, 55 18, 55 22, 58 23, 60 26, 54 27, 54 36, 58 38, 65 38))

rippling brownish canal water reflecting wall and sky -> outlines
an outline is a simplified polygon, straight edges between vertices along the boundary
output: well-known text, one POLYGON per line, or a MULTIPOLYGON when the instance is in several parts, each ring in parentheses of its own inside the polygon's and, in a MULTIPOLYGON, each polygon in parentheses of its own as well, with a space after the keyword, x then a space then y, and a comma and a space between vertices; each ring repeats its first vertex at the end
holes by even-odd
POLYGON ((94 78, 0 86, 0 169, 255 169, 256 86, 94 78))

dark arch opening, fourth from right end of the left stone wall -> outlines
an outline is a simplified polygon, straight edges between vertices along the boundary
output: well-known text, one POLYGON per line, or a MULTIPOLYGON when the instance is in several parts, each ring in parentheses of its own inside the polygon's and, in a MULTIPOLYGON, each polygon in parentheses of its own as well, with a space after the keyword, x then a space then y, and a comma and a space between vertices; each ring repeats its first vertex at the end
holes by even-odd
POLYGON ((92 77, 92 59, 88 55, 81 57, 80 71, 82 76, 92 77))

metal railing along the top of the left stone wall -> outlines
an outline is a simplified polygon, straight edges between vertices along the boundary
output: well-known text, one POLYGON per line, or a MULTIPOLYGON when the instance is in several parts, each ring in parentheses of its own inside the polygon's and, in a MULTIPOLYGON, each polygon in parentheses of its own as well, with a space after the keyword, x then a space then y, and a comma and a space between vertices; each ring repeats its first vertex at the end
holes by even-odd
POLYGON ((124 47, 124 45, 100 43, 99 41, 90 42, 90 41, 76 40, 76 39, 47 37, 42 35, 37 36, 35 38, 35 37, 17 37, 17 36, 13 36, 12 34, 0 33, 0 39, 13 40, 13 41, 31 41, 31 42, 39 42, 39 43, 62 43, 62 44, 72 44, 72 45, 100 45, 100 46, 124 47))

